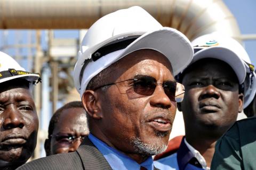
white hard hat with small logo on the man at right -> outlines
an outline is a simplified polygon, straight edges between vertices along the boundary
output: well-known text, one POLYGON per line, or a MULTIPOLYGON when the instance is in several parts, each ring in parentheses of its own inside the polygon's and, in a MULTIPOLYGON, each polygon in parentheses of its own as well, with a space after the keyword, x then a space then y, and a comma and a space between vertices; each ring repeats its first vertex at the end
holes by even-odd
POLYGON ((244 108, 246 108, 256 92, 256 75, 244 47, 235 39, 217 32, 200 36, 191 44, 195 53, 191 63, 203 58, 215 58, 228 63, 233 68, 239 84, 244 86, 244 108))

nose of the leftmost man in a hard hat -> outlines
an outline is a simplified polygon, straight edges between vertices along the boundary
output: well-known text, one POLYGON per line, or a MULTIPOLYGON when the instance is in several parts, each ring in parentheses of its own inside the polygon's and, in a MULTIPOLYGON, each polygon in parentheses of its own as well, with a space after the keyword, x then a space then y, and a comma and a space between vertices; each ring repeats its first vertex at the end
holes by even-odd
POLYGON ((24 119, 20 111, 15 107, 10 107, 5 110, 6 116, 4 118, 4 129, 22 128, 25 125, 24 119))

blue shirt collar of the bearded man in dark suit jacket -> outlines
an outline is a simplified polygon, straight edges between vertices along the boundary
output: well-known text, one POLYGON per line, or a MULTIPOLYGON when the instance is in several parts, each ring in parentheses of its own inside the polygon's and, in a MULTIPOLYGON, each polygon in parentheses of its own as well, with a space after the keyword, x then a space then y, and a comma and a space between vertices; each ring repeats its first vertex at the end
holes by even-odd
POLYGON ((153 159, 149 157, 146 161, 141 164, 138 164, 132 158, 124 155, 124 153, 109 147, 105 142, 102 142, 97 137, 89 134, 89 139, 92 143, 99 149, 102 155, 107 159, 109 165, 113 169, 140 169, 140 166, 147 168, 148 170, 154 169, 153 159))

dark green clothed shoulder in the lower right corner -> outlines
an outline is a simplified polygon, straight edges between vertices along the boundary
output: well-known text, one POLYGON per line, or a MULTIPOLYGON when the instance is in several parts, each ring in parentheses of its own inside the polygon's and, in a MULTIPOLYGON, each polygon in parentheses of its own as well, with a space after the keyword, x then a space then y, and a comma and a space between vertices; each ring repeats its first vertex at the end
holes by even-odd
POLYGON ((247 166, 246 161, 251 160, 256 152, 255 128, 255 117, 239 120, 231 126, 215 145, 211 169, 241 169, 247 166))

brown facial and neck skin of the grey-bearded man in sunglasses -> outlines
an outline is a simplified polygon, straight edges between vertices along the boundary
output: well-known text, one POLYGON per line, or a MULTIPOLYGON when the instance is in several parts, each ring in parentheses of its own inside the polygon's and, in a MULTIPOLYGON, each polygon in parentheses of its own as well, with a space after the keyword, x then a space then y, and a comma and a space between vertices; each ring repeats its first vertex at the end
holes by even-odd
MULTIPOLYGON (((114 74, 110 73, 107 83, 131 79, 136 75, 154 77, 157 83, 175 81, 170 62, 163 54, 153 50, 130 53, 121 59, 117 68, 114 74)), ((139 137, 147 144, 167 144, 177 108, 161 85, 156 86, 152 95, 141 96, 133 91, 129 82, 111 85, 105 90, 86 90, 82 102, 90 115, 90 132, 139 164, 149 155, 134 150, 131 137, 139 137), (157 124, 155 118, 168 120, 169 123, 157 124), (159 137, 156 131, 166 132, 166 135, 159 137)))

